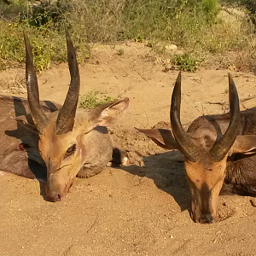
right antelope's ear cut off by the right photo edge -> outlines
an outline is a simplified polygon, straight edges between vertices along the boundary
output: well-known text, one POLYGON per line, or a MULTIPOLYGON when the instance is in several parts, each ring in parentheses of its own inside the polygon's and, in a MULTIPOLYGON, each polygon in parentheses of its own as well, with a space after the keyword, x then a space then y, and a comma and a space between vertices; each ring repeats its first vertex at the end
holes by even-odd
POLYGON ((256 135, 238 135, 229 154, 253 154, 256 152, 256 135))

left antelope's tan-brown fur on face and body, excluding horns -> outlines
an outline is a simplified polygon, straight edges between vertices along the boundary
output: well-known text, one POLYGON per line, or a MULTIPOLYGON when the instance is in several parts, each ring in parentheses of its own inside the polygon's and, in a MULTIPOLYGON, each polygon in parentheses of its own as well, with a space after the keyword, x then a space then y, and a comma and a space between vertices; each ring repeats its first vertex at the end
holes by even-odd
MULTIPOLYGON (((108 111, 104 106, 91 111, 80 108, 73 131, 56 135, 55 119, 61 106, 53 102, 40 102, 40 105, 50 122, 39 137, 27 100, 0 96, 0 170, 23 177, 47 179, 46 196, 49 201, 58 201, 67 195, 73 177, 96 175, 112 160, 113 146, 108 129, 97 126, 104 119, 110 119, 111 114, 103 114, 102 117, 102 112, 108 111), (76 145, 75 153, 63 158, 70 143, 76 145)), ((123 105, 121 110, 127 108, 127 99, 123 105)))

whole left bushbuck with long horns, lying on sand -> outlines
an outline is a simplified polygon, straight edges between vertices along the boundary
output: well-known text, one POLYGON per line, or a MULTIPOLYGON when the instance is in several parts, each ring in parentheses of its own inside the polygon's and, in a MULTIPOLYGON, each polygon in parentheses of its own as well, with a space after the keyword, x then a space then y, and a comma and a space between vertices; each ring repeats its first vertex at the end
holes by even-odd
MULTIPOLYGON (((27 100, 0 96, 0 170, 29 178, 45 176, 45 198, 60 201, 67 195, 74 177, 96 175, 112 159, 113 145, 106 126, 113 125, 125 113, 129 99, 104 103, 90 110, 77 109, 79 67, 66 32, 71 76, 66 100, 62 107, 53 102, 40 102, 26 32, 24 38, 27 100)), ((117 150, 115 153, 118 154, 117 150)), ((125 160, 124 151, 120 154, 125 160)))

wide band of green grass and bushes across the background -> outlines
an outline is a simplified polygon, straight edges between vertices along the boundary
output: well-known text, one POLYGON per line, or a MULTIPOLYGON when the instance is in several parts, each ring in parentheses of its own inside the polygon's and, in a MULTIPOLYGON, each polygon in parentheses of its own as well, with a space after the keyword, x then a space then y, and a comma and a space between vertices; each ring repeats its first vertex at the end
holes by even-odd
POLYGON ((195 53, 225 55, 230 50, 246 51, 256 67, 250 54, 256 48, 253 0, 5 0, 0 9, 1 69, 24 62, 24 29, 38 71, 48 68, 50 61, 66 61, 65 28, 79 62, 90 57, 90 42, 135 39, 154 42, 153 49, 159 41, 176 44, 187 53, 174 57, 174 64, 183 63, 179 67, 185 70, 194 71, 201 63, 193 61, 195 53), (229 10, 234 6, 243 15, 229 10))

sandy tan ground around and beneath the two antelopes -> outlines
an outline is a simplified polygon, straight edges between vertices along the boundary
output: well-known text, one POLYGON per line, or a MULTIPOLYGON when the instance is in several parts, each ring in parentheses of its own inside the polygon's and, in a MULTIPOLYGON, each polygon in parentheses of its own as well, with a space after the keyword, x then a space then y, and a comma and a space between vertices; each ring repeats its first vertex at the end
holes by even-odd
MULTIPOLYGON (((195 224, 189 217, 183 156, 159 148, 133 128, 169 122, 177 71, 163 72, 165 61, 140 43, 96 45, 92 55, 80 67, 80 98, 91 90, 130 98, 125 118, 110 130, 113 141, 130 154, 131 166, 77 178, 67 198, 55 203, 44 201, 36 180, 0 177, 0 255, 256 255, 252 198, 220 196, 219 221, 195 224), (124 54, 117 55, 118 49, 124 54)), ((216 67, 183 73, 184 126, 201 114, 228 111, 229 72, 241 110, 256 105, 251 73, 216 67)), ((26 97, 24 77, 24 68, 1 72, 1 93, 26 97)), ((38 83, 42 100, 62 103, 67 64, 52 65, 38 83)))

